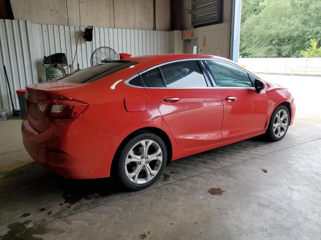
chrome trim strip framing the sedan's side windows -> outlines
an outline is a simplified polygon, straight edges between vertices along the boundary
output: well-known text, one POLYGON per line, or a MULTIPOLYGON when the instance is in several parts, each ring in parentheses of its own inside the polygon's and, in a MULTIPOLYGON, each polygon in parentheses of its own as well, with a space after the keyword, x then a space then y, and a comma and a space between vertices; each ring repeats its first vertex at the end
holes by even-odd
MULTIPOLYGON (((166 62, 162 62, 162 63, 159 63, 157 65, 154 65, 154 66, 151 66, 145 70, 142 70, 138 73, 136 73, 135 75, 132 75, 131 77, 127 78, 124 83, 128 86, 131 86, 131 87, 135 87, 135 88, 146 88, 146 89, 209 89, 209 88, 212 88, 212 89, 255 89, 254 86, 248 86, 248 87, 237 87, 237 86, 207 86, 207 87, 152 87, 152 86, 135 86, 135 85, 132 85, 129 83, 129 81, 136 77, 137 75, 141 75, 149 70, 152 70, 156 67, 160 67, 160 66, 163 66, 165 64, 169 64, 169 63, 173 63, 173 62, 178 62, 178 61, 191 61, 191 60, 214 60, 214 61, 222 61, 222 62, 226 62, 226 63, 230 63, 238 68, 240 68, 241 70, 247 72, 248 74, 251 74, 253 75, 251 72, 249 72, 248 70, 244 69, 244 68, 241 68, 240 66, 234 64, 233 62, 229 62, 229 61, 225 61, 225 60, 222 60, 222 59, 216 59, 216 58, 184 58, 184 59, 177 59, 177 60, 171 60, 171 61, 166 61, 166 62)), ((256 77, 255 77, 256 78, 256 77)))

